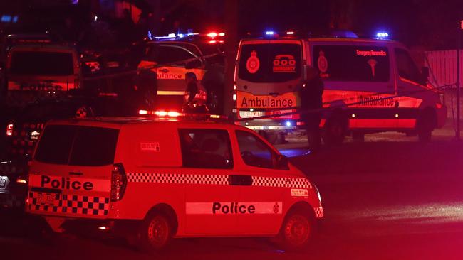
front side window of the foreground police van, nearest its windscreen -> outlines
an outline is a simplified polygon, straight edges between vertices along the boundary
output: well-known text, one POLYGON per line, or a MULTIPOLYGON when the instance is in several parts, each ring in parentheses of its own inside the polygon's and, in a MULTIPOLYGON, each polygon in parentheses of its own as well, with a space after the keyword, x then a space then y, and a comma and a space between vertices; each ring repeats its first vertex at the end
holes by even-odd
POLYGON ((257 136, 246 131, 236 131, 236 139, 244 163, 260 168, 275 168, 276 153, 257 136))

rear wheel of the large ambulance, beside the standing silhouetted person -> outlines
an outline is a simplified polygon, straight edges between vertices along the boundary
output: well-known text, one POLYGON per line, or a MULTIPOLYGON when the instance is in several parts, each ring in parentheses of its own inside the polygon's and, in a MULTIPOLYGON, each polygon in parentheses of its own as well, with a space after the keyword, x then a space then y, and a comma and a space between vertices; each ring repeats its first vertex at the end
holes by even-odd
POLYGON ((328 146, 343 143, 347 128, 348 119, 345 118, 343 114, 333 114, 333 116, 326 121, 323 129, 323 142, 328 146))

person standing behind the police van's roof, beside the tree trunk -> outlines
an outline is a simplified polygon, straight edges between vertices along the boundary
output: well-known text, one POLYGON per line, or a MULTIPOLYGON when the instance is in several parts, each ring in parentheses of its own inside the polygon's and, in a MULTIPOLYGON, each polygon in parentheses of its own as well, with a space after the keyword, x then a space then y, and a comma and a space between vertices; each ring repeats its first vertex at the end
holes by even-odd
POLYGON ((184 111, 191 113, 206 113, 207 93, 204 87, 199 83, 194 72, 187 72, 185 75, 187 90, 184 94, 184 111))

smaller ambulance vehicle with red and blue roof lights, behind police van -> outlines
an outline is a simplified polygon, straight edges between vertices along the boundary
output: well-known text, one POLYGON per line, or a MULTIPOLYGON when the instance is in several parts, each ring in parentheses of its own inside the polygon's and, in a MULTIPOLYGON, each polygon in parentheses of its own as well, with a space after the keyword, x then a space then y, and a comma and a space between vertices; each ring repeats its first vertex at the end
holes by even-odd
POLYGON ((145 43, 138 65, 137 89, 145 92, 149 109, 180 111, 185 75, 193 72, 207 90, 207 106, 222 112, 224 89, 224 33, 170 34, 145 43))

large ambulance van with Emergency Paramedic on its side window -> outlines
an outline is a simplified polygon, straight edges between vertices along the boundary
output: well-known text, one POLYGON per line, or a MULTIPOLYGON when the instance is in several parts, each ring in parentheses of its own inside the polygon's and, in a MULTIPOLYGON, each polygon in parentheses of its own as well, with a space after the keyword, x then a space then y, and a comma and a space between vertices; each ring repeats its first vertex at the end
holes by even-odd
POLYGON ((314 67, 325 88, 320 126, 327 143, 341 143, 347 134, 363 141, 365 134, 382 131, 429 141, 444 125, 442 93, 427 82, 427 68, 420 72, 405 45, 355 35, 280 36, 271 31, 239 44, 234 85, 239 124, 266 136, 303 126, 291 112, 301 106, 298 92, 310 87, 308 67, 314 67))

